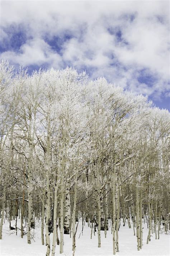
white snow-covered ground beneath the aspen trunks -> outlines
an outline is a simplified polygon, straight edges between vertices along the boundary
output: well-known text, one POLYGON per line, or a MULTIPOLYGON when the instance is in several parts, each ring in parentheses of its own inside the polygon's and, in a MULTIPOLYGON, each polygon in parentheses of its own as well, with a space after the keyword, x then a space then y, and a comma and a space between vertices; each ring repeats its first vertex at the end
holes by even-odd
MULTIPOLYGON (((11 227, 15 225, 15 221, 11 221, 11 227)), ((18 224, 19 225, 19 224, 18 224)), ((152 234, 151 242, 146 244, 147 240, 147 224, 143 225, 143 248, 137 251, 136 236, 133 235, 132 228, 128 228, 128 223, 119 229, 119 253, 121 256, 163 256, 170 255, 169 238, 170 236, 164 233, 160 234, 160 239, 155 239, 155 234, 152 234)), ((162 226, 161 226, 162 229, 162 226)), ((76 233, 76 251, 75 256, 111 256, 113 255, 112 234, 111 230, 107 232, 107 238, 104 236, 104 231, 101 231, 101 248, 98 248, 97 232, 92 234, 90 239, 91 229, 85 223, 83 232, 82 221, 79 222, 76 233)), ((50 234, 52 244, 52 234, 50 234)), ((60 239, 60 237, 59 237, 60 239)), ((60 246, 56 245, 55 255, 71 256, 72 255, 72 238, 70 235, 64 235, 64 253, 60 254, 60 246)), ((36 224, 34 230, 34 240, 32 244, 27 244, 27 236, 20 237, 20 230, 16 236, 15 230, 9 230, 9 223, 5 221, 3 225, 3 239, 0 240, 0 255, 1 256, 45 256, 46 246, 41 244, 41 223, 36 224), (13 232, 14 231, 14 232, 13 232)))

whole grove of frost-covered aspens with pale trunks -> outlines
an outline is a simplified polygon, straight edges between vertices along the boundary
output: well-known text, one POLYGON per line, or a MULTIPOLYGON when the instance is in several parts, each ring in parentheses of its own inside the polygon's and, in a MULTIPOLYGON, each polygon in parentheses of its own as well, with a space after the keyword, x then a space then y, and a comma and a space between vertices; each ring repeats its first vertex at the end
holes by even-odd
POLYGON ((16 234, 31 244, 38 221, 46 256, 56 244, 63 253, 64 234, 74 255, 81 220, 98 247, 101 232, 112 232, 115 255, 122 223, 138 251, 160 229, 169 232, 167 110, 73 68, 29 75, 2 60, 0 86, 0 239, 4 221, 11 229, 15 220, 16 234))

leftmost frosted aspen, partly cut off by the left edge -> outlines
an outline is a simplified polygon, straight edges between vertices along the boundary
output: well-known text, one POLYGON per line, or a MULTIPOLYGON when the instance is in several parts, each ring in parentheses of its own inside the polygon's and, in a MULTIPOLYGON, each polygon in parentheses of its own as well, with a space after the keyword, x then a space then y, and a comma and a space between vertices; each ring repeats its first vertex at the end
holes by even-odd
MULTIPOLYGON (((19 74, 20 75, 20 74, 19 74)), ((2 196, 2 212, 0 221, 0 239, 2 239, 2 229, 4 221, 5 212, 5 202, 6 202, 6 187, 8 182, 9 169, 11 165, 11 153, 13 149, 13 137, 14 137, 14 127, 16 125, 16 116, 18 113, 18 105, 20 101, 20 84, 17 88, 13 88, 13 83, 15 84, 15 79, 12 80, 13 67, 9 65, 8 61, 2 60, 0 63, 0 98, 1 98, 1 108, 0 108, 0 162, 3 160, 3 150, 5 147, 6 140, 9 140, 9 152, 8 160, 6 163, 4 174, 4 188, 2 196), (9 87, 12 89, 12 95, 9 92, 9 87), (9 97, 9 99, 8 99, 9 97), (11 102, 9 103, 11 98, 11 102)), ((22 74, 21 74, 22 76, 22 74)))

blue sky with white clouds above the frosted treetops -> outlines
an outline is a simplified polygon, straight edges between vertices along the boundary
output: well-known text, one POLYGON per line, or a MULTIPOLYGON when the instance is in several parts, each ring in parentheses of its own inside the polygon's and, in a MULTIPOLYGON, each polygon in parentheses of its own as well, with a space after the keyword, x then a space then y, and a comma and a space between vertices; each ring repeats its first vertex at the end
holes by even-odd
POLYGON ((169 1, 1 1, 0 58, 72 66, 170 110, 169 1))

